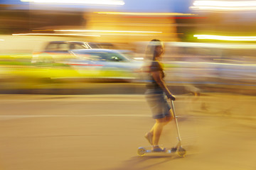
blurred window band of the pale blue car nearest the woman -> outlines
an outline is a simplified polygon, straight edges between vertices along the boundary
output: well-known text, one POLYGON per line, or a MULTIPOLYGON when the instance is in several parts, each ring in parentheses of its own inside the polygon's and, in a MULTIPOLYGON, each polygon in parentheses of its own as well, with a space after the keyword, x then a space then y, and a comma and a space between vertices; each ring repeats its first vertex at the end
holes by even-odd
POLYGON ((105 62, 129 62, 123 55, 117 52, 80 52, 75 51, 74 54, 85 60, 100 60, 105 62))

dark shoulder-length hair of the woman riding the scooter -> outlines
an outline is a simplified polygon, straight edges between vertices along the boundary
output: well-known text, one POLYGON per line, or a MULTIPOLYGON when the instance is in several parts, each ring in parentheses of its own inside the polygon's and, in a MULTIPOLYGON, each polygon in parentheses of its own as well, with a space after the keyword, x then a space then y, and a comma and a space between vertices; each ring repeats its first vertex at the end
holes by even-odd
POLYGON ((149 42, 149 45, 146 47, 146 60, 156 60, 156 56, 158 55, 156 52, 156 47, 159 46, 162 46, 161 40, 153 39, 149 42))

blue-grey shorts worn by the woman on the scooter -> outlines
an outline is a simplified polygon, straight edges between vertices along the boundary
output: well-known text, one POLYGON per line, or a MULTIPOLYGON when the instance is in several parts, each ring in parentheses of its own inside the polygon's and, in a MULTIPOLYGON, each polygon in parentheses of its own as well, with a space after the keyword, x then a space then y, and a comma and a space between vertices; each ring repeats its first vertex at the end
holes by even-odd
POLYGON ((154 119, 171 117, 171 106, 166 101, 164 91, 147 89, 145 95, 154 119))

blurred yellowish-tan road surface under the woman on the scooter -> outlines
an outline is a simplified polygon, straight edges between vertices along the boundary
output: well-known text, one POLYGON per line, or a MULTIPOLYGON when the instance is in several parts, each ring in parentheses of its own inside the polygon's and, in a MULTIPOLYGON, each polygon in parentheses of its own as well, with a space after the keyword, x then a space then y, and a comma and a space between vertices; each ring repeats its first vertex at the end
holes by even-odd
MULTIPOLYGON (((0 95, 1 170, 256 169, 254 96, 177 96, 185 158, 137 156, 154 120, 140 95, 0 95), (234 100, 235 99, 235 100, 234 100)), ((176 145, 174 122, 160 143, 176 145)))

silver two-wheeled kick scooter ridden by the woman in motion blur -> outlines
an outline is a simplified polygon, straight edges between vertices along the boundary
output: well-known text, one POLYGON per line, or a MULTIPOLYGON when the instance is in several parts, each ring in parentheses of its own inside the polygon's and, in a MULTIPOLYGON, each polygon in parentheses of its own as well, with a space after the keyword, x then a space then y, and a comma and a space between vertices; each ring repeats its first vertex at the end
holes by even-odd
MULTIPOLYGON (((174 101, 171 100, 171 108, 173 110, 174 113, 174 120, 175 120, 175 124, 176 124, 176 130, 177 130, 177 139, 178 139, 178 144, 176 145, 176 147, 170 148, 170 149, 166 149, 164 152, 166 154, 174 154, 177 153, 179 157, 185 157, 186 156, 186 149, 184 149, 181 145, 181 135, 178 129, 178 120, 175 114, 175 109, 174 109, 174 101)), ((137 154, 139 154, 139 156, 144 156, 145 154, 148 153, 156 153, 153 152, 151 149, 146 149, 145 147, 139 147, 137 154)))

